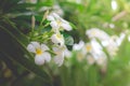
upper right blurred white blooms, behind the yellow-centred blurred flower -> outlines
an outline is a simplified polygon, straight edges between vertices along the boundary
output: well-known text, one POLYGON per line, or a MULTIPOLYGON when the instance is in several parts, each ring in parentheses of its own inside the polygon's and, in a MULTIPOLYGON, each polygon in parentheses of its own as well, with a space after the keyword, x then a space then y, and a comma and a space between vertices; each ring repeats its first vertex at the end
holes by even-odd
POLYGON ((119 43, 121 43, 122 39, 117 35, 108 35, 105 31, 100 30, 98 28, 92 28, 86 31, 86 34, 91 39, 96 39, 101 42, 101 45, 107 51, 110 57, 115 56, 119 43))

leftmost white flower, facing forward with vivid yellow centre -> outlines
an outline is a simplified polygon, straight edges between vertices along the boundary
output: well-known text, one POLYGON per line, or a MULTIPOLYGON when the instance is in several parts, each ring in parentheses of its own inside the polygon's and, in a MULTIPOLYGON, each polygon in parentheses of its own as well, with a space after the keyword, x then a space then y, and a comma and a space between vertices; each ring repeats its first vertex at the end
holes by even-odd
POLYGON ((49 62, 51 60, 51 55, 47 52, 49 51, 49 47, 46 44, 30 42, 27 46, 27 51, 36 54, 36 64, 43 64, 46 61, 49 62))

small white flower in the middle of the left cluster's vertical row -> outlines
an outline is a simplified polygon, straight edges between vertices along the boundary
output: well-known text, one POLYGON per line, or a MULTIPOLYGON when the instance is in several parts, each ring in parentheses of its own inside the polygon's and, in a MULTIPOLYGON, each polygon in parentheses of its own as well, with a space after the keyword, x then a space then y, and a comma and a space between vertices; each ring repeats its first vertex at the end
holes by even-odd
POLYGON ((60 32, 58 33, 54 33, 51 37, 51 40, 52 40, 53 43, 60 44, 61 46, 64 45, 64 42, 65 42, 63 34, 61 34, 60 32))

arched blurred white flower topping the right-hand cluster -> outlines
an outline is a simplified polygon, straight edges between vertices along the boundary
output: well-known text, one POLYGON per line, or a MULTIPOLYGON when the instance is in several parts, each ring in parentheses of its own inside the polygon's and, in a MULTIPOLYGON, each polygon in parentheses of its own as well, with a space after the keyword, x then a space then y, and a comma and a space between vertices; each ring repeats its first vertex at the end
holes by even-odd
POLYGON ((90 39, 93 39, 93 38, 96 38, 99 39, 100 41, 105 41, 105 40, 108 40, 109 39, 109 35, 103 31, 103 30, 100 30, 98 28, 92 28, 92 29, 89 29, 86 31, 86 34, 90 38, 90 39))

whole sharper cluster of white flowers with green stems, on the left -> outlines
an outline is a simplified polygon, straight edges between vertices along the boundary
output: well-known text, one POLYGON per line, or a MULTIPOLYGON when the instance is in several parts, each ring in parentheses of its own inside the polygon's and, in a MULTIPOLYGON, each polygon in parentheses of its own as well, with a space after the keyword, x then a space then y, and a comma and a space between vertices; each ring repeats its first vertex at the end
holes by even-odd
POLYGON ((64 35, 61 31, 70 31, 72 27, 69 23, 61 18, 56 13, 50 13, 47 16, 47 20, 51 26, 50 32, 44 32, 42 34, 47 37, 48 41, 43 39, 43 42, 31 41, 27 49, 34 53, 36 64, 43 64, 44 62, 50 62, 52 57, 57 66, 62 66, 64 61, 66 45, 64 35), (53 54, 50 54, 53 53, 53 54))

